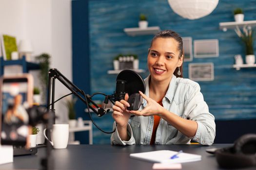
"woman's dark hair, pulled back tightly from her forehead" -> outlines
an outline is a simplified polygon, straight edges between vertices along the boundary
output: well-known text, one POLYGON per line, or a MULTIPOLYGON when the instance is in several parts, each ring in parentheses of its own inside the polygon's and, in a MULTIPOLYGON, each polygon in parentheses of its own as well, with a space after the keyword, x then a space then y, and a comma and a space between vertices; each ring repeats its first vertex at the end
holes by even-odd
MULTIPOLYGON (((179 51, 179 54, 178 54, 178 58, 180 59, 182 56, 184 57, 184 52, 183 52, 183 42, 182 42, 182 38, 179 36, 179 34, 177 34, 176 32, 172 31, 172 30, 163 30, 163 31, 160 31, 158 34, 156 34, 154 36, 154 38, 152 39, 151 41, 151 44, 150 44, 150 48, 154 42, 154 40, 156 40, 157 38, 174 38, 177 42, 178 42, 178 51, 179 51)), ((177 74, 178 72, 178 68, 175 69, 174 71, 174 75, 176 77, 183 77, 183 63, 182 65, 179 67, 180 69, 180 75, 177 74)))

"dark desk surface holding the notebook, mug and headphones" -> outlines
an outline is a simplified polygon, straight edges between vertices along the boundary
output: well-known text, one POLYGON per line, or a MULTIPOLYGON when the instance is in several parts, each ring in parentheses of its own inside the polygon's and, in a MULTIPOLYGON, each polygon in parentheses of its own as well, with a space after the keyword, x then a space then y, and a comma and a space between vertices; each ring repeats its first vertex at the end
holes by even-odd
MULTIPOLYGON (((202 160, 182 163, 182 170, 221 170, 215 156, 206 153, 205 150, 228 146, 231 144, 214 144, 210 147, 202 145, 68 145, 66 149, 52 150, 52 155, 57 170, 152 170, 153 163, 132 159, 129 154, 157 150, 183 150, 185 153, 202 155, 202 160)), ((16 156, 13 163, 0 165, 0 170, 39 169, 40 158, 44 154, 45 148, 39 148, 36 155, 16 156)))

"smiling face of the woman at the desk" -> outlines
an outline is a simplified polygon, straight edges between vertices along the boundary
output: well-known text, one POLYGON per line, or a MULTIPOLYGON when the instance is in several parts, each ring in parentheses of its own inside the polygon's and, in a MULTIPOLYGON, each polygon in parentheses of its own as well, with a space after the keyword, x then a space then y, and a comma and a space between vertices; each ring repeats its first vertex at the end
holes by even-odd
POLYGON ((157 38, 149 50, 148 69, 151 79, 169 82, 175 69, 183 62, 183 57, 179 59, 178 42, 174 38, 157 38))

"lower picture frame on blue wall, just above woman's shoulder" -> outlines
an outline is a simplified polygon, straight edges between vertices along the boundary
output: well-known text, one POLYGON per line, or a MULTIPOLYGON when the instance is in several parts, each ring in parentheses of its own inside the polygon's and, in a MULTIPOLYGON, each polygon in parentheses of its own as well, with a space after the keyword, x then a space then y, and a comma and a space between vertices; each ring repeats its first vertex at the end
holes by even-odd
POLYGON ((214 64, 213 63, 190 63, 189 79, 194 81, 213 81, 214 64))

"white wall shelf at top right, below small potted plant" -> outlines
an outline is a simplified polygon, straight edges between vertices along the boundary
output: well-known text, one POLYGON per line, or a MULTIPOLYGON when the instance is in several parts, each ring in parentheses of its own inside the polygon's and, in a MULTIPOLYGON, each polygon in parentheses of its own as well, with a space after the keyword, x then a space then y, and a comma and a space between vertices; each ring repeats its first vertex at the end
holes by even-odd
POLYGON ((256 20, 243 21, 243 22, 220 22, 219 29, 223 31, 227 31, 227 29, 234 29, 236 28, 236 26, 243 27, 244 25, 254 27, 256 26, 256 20))

